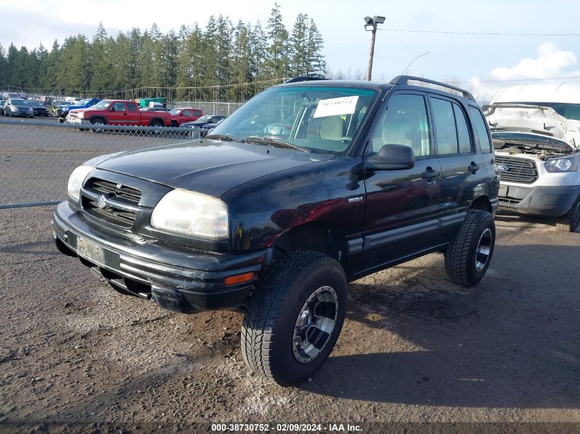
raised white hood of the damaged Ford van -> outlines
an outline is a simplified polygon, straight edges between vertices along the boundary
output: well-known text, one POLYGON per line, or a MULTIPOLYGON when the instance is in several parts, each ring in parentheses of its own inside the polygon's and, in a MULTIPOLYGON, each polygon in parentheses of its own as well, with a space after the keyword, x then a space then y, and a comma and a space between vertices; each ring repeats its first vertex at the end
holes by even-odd
MULTIPOLYGON (((572 149, 580 149, 580 131, 575 123, 560 116, 553 108, 531 104, 500 103, 483 106, 491 134, 520 133, 529 135, 532 141, 554 139, 566 143, 572 149)), ((545 148, 544 148, 545 149, 545 148)), ((550 148, 552 149, 552 148, 550 148)))

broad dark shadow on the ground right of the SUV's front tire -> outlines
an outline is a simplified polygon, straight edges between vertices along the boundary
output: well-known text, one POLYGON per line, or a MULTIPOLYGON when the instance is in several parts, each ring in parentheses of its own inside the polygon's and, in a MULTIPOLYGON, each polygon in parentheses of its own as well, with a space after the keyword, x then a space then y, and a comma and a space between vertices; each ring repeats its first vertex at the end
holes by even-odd
POLYGON ((472 289, 450 282, 439 259, 441 267, 395 267, 393 285, 353 282, 343 334, 371 343, 339 340, 303 389, 410 405, 578 409, 578 258, 580 245, 498 245, 472 289))

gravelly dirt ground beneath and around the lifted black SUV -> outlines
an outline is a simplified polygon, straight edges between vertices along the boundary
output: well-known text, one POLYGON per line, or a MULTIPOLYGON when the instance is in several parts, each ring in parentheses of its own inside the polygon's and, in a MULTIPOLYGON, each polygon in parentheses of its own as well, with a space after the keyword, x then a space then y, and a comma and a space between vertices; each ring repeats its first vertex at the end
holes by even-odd
POLYGON ((441 254, 351 283, 331 357, 282 388, 244 365, 240 313, 112 292, 56 251, 50 219, 50 207, 0 210, 0 432, 580 423, 580 233, 549 221, 498 215, 473 289, 446 278, 441 254))

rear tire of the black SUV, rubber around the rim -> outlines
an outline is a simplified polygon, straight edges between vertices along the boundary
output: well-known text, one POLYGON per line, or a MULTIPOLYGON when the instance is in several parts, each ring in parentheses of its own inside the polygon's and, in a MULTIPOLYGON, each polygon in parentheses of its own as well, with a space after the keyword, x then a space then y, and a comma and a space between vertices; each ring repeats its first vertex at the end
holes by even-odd
MULTIPOLYGON (((496 224, 494 217, 484 210, 468 210, 463 226, 456 234, 450 247, 445 250, 445 272, 458 285, 472 287, 483 278, 496 243, 496 224), (491 245, 487 261, 483 268, 478 269, 478 247, 482 237, 491 232, 491 245)), ((481 264, 481 263, 480 263, 481 264)))

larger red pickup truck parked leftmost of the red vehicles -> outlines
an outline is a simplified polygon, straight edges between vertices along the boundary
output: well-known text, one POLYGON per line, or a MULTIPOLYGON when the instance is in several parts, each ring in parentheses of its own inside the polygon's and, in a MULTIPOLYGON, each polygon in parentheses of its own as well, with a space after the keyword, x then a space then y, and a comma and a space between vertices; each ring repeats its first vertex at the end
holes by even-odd
POLYGON ((165 111, 139 111, 135 101, 103 99, 89 108, 71 110, 65 119, 67 123, 93 125, 133 125, 143 127, 169 127, 171 114, 165 111))

